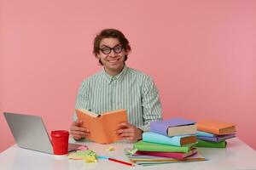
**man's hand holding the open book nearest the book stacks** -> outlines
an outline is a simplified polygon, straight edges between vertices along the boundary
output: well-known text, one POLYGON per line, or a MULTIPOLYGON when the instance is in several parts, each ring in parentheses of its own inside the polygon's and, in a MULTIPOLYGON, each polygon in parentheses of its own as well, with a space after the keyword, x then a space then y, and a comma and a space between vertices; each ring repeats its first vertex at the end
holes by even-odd
POLYGON ((138 139, 142 139, 143 137, 143 131, 128 122, 119 123, 118 126, 117 133, 120 139, 128 139, 131 142, 137 142, 138 139))

